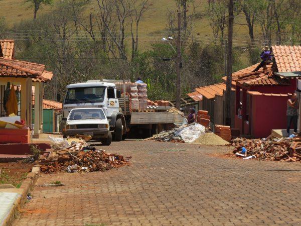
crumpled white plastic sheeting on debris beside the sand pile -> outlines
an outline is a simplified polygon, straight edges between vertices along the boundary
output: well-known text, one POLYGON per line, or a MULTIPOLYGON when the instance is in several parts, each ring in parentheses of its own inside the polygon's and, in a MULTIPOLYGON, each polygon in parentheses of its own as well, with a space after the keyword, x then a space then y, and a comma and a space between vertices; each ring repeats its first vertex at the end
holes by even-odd
POLYGON ((192 143, 196 139, 198 139, 201 135, 205 134, 205 127, 201 124, 192 124, 188 127, 180 129, 177 135, 181 136, 181 138, 185 141, 185 143, 192 143))

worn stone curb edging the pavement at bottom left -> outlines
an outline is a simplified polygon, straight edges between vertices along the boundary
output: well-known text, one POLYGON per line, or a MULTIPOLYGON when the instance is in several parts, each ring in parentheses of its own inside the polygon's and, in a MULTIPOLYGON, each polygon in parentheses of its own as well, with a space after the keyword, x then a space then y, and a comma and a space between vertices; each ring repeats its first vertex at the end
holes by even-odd
POLYGON ((20 209, 24 205, 25 201, 27 200, 27 194, 31 191, 32 187, 37 182, 40 175, 40 165, 34 165, 32 171, 28 173, 27 178, 22 182, 20 188, 4 188, 0 189, 0 191, 11 191, 19 193, 19 197, 15 200, 13 207, 11 208, 10 212, 4 219, 4 221, 0 222, 2 226, 9 226, 13 223, 16 219, 20 209))

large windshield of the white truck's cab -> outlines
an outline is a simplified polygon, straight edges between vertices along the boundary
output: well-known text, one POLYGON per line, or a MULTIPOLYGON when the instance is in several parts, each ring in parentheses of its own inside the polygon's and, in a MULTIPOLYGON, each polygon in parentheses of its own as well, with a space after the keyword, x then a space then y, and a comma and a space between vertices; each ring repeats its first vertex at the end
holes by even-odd
POLYGON ((103 102, 105 87, 78 87, 69 88, 65 104, 103 102))

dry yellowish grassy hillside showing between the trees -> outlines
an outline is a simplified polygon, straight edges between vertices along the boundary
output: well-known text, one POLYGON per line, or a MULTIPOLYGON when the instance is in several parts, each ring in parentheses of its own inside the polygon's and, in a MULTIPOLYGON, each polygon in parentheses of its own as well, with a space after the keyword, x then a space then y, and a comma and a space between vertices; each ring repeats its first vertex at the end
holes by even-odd
MULTIPOLYGON (((51 12, 55 7, 63 7, 59 4, 61 4, 59 0, 54 0, 52 6, 43 6, 38 12, 37 19, 39 19, 39 16, 51 12)), ((149 0, 149 4, 149 10, 144 14, 139 27, 139 45, 142 51, 148 49, 154 41, 159 41, 166 36, 164 32, 166 31, 167 12, 168 10, 177 10, 174 0, 149 0)), ((197 6, 196 13, 200 15, 206 11, 207 1, 195 0, 195 5, 197 6)), ((96 1, 92 0, 90 5, 85 8, 84 14, 88 17, 94 7, 96 8, 97 4, 96 1)), ((30 5, 25 3, 24 0, 0 0, 0 9, 1 16, 5 17, 10 28, 22 20, 33 20, 33 8, 30 8, 30 5)), ((189 8, 189 10, 192 9, 189 8)), ((235 20, 241 22, 244 18, 240 16, 235 20)), ((246 27, 235 25, 234 32, 235 39, 248 38, 246 27)), ((193 35, 199 42, 211 43, 208 38, 212 40, 213 35, 206 17, 198 17, 193 20, 193 35)), ((130 37, 128 37, 128 41, 130 41, 130 37)), ((246 54, 242 56, 244 64, 247 63, 247 57, 245 56, 246 54)))

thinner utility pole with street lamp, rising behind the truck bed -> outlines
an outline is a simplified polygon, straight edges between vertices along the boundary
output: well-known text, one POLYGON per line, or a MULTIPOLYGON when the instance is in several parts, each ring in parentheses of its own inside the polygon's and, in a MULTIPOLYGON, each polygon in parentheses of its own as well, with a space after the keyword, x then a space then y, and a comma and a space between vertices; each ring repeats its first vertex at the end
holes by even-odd
POLYGON ((176 107, 181 107, 181 12, 178 10, 178 38, 177 38, 177 99, 176 107))

